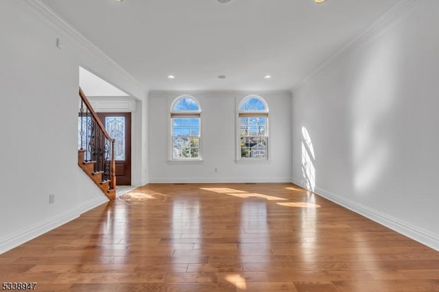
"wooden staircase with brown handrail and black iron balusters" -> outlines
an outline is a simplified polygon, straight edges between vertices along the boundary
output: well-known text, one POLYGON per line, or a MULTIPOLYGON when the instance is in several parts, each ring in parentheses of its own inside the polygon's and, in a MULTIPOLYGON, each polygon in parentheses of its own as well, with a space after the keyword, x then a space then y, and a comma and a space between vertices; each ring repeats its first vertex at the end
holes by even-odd
POLYGON ((80 88, 78 165, 108 199, 116 197, 115 140, 80 88))

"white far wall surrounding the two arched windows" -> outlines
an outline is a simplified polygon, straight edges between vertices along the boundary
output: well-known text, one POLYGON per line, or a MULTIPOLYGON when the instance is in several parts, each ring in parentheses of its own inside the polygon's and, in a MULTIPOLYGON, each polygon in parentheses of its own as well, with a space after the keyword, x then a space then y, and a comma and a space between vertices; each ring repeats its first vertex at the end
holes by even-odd
POLYGON ((163 93, 149 96, 149 180, 150 182, 289 182, 291 178, 291 95, 290 93, 163 93), (191 95, 202 109, 202 163, 169 162, 169 109, 180 95, 191 95), (235 162, 235 95, 240 101, 259 95, 270 109, 270 162, 235 162), (215 172, 215 168, 217 172, 215 172))

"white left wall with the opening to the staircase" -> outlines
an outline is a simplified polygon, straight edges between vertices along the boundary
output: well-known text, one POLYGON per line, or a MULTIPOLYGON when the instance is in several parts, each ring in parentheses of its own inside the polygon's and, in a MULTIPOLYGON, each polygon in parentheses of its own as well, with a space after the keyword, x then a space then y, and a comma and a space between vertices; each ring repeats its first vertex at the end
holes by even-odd
POLYGON ((0 253, 106 201, 78 167, 79 66, 145 98, 136 82, 29 3, 0 1, 0 253))

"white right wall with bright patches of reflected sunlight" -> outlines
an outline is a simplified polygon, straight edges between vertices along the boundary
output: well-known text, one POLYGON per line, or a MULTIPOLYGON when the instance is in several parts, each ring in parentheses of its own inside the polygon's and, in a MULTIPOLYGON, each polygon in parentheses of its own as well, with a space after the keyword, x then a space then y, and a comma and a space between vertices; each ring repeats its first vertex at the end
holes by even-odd
POLYGON ((439 1, 415 2, 293 91, 292 175, 439 250, 439 1))

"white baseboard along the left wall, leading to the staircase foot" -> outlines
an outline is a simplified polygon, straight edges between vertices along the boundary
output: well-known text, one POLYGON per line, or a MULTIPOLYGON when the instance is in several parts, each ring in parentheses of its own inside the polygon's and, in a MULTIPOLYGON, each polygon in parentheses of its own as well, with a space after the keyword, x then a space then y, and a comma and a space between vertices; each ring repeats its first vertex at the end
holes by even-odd
POLYGON ((14 247, 17 247, 31 239, 34 239, 50 230, 54 230, 55 228, 62 226, 63 224, 72 221, 80 216, 78 209, 69 210, 60 215, 56 215, 49 219, 45 219, 44 221, 35 223, 28 228, 24 228, 12 234, 8 234, 3 238, 0 238, 0 254, 4 252, 8 252, 8 250, 12 250, 14 247))

